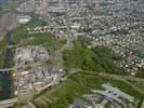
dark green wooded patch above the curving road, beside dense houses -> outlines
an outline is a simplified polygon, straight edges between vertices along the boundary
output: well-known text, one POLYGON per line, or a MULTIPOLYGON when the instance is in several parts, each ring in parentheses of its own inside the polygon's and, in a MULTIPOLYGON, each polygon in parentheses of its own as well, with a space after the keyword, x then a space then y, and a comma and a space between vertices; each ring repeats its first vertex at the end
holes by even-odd
POLYGON ((63 52, 65 68, 80 68, 82 70, 104 71, 112 73, 125 73, 115 65, 119 57, 107 48, 96 46, 88 49, 81 41, 76 41, 70 50, 63 52))

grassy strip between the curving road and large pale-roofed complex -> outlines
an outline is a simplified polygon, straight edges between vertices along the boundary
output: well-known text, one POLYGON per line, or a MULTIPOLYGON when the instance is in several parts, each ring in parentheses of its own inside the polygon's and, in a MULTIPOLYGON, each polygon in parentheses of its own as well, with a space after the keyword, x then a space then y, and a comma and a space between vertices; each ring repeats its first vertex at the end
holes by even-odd
POLYGON ((34 97, 34 104, 37 108, 67 108, 74 99, 90 93, 91 89, 101 90, 103 83, 109 82, 121 91, 142 99, 142 95, 127 83, 109 78, 99 76, 75 73, 60 85, 41 92, 34 97))

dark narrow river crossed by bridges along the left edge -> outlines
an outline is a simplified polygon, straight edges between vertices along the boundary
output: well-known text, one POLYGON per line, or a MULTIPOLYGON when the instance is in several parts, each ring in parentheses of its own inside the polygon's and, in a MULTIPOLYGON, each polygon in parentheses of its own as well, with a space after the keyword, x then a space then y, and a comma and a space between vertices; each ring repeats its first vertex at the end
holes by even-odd
MULTIPOLYGON (((6 44, 12 44, 12 36, 11 32, 8 31, 6 33, 6 44)), ((4 64, 3 69, 11 68, 11 62, 13 60, 13 53, 11 49, 6 49, 5 56, 4 56, 4 64)), ((2 73, 2 98, 1 99, 9 99, 11 95, 11 83, 10 83, 10 72, 4 71, 2 73)))

